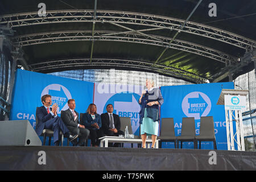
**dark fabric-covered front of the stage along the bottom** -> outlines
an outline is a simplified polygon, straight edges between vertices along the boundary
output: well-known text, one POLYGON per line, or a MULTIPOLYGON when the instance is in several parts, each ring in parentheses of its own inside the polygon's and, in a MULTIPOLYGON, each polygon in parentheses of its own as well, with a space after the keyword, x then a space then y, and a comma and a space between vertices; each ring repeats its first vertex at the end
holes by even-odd
POLYGON ((0 147, 0 170, 256 170, 256 153, 167 148, 0 147))

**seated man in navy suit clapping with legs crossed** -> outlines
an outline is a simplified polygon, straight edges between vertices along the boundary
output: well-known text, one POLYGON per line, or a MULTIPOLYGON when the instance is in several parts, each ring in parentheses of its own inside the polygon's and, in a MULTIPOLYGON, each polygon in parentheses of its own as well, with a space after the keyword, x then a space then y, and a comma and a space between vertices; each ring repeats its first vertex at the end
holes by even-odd
POLYGON ((53 130, 53 142, 55 146, 59 146, 60 131, 63 132, 65 137, 68 137, 70 141, 76 139, 78 135, 71 135, 68 128, 64 125, 61 118, 57 115, 57 104, 52 105, 52 98, 46 94, 41 97, 43 106, 36 109, 36 117, 38 118, 38 124, 36 125, 36 134, 41 135, 44 129, 53 130), (52 108, 49 106, 52 105, 52 108))

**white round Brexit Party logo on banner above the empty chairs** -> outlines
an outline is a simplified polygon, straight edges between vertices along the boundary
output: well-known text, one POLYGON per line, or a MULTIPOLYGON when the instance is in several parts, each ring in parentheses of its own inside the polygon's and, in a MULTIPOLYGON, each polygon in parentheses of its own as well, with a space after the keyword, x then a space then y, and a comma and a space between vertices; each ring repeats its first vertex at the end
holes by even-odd
POLYGON ((203 92, 191 92, 183 98, 182 110, 187 117, 200 117, 207 116, 210 112, 212 104, 209 97, 203 92))

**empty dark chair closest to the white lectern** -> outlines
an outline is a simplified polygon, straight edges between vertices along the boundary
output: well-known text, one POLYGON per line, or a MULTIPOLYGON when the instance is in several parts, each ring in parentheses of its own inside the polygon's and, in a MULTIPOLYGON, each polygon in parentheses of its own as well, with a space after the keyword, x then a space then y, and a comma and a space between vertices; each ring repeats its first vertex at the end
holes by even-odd
POLYGON ((199 141, 199 148, 201 149, 201 141, 212 141, 214 150, 217 150, 214 122, 212 116, 200 118, 200 134, 196 136, 196 146, 199 141))

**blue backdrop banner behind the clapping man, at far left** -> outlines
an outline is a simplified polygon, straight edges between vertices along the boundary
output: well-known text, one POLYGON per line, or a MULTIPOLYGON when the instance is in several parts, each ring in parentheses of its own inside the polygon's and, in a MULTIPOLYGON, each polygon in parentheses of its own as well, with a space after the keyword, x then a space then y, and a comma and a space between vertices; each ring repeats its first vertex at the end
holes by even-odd
POLYGON ((75 110, 78 113, 85 113, 88 105, 93 102, 93 85, 93 82, 17 69, 10 120, 28 119, 35 129, 36 107, 43 105, 41 97, 44 94, 50 94, 52 104, 59 105, 57 110, 59 116, 61 110, 68 109, 70 98, 76 101, 75 110))

